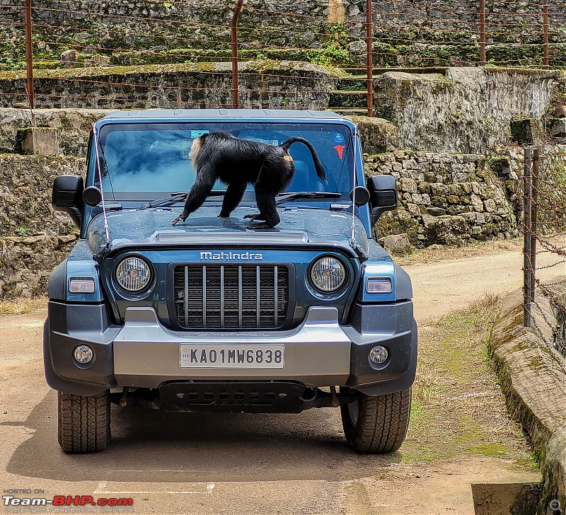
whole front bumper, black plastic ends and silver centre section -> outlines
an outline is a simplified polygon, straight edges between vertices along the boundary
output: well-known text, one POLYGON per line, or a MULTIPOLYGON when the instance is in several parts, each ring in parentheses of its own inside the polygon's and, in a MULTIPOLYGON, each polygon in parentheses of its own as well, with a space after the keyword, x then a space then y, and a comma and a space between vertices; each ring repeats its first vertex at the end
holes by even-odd
POLYGON ((44 329, 47 383, 77 395, 108 388, 159 388, 168 381, 296 381, 306 387, 348 386, 368 395, 409 388, 415 378, 417 330, 412 302, 357 304, 352 323, 340 326, 333 306, 313 306, 299 327, 264 332, 177 332, 153 308, 128 308, 124 325, 109 323, 104 304, 50 301, 44 329), (74 361, 77 345, 93 347, 92 366, 74 361), (179 365, 180 344, 279 344, 284 369, 193 369, 179 365), (369 350, 385 345, 390 357, 376 366, 369 350))

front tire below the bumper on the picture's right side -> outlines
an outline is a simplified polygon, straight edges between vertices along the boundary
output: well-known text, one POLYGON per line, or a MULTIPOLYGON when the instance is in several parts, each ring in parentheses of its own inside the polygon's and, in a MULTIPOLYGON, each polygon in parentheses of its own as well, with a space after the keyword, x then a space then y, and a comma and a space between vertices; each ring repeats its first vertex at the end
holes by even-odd
POLYGON ((342 405, 342 427, 350 446, 360 453, 397 451, 407 434, 411 389, 371 397, 359 393, 353 403, 342 405))

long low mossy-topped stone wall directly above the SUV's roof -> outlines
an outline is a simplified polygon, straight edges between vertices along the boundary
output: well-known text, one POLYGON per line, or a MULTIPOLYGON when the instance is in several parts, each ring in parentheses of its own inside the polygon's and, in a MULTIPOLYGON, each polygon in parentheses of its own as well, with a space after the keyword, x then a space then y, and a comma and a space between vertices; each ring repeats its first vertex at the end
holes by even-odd
MULTIPOLYGON (((325 109, 340 71, 304 62, 238 64, 243 108, 325 109)), ((231 64, 37 70, 36 108, 230 108, 231 64)), ((0 74, 0 107, 25 100, 25 72, 0 74)))

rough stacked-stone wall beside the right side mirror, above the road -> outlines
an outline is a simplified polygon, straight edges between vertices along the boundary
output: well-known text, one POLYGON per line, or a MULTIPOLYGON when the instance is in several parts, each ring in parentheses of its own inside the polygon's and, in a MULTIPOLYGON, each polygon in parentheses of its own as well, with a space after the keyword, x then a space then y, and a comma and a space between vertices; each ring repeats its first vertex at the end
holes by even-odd
POLYGON ((393 151, 366 157, 366 174, 397 179, 400 206, 381 216, 378 236, 407 233, 419 247, 463 245, 519 235, 514 214, 518 177, 495 174, 485 156, 393 151))

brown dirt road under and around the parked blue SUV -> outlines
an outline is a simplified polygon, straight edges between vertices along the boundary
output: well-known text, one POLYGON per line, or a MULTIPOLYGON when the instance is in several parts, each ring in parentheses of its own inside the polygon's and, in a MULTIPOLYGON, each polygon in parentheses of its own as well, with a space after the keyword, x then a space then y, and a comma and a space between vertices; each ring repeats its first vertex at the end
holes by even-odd
MULTIPOLYGON (((518 252, 406 269, 424 349, 436 337, 426 320, 485 292, 504 293, 521 284, 518 252)), ((331 409, 187 415, 112 408, 108 449, 68 456, 57 445, 56 394, 43 377, 44 318, 44 312, 0 318, 4 494, 31 489, 49 499, 55 494, 132 497, 136 514, 468 515, 474 513, 471 484, 540 479, 532 464, 509 456, 469 449, 436 456, 435 444, 444 439, 441 427, 450 419, 436 421, 440 429, 430 441, 409 439, 391 456, 359 456, 345 445, 339 415, 331 409), (415 454, 421 448, 429 453, 415 454)), ((521 441, 515 447, 529 451, 521 441)))

